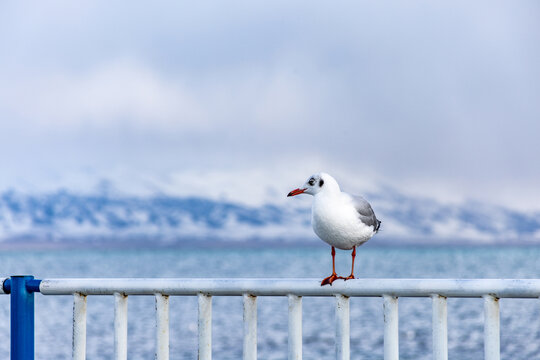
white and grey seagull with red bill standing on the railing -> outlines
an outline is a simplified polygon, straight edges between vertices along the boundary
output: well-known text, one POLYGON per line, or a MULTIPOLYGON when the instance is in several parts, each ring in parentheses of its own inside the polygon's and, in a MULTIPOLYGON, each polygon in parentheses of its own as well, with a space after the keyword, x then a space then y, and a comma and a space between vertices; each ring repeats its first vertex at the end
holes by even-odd
POLYGON ((354 279, 356 247, 371 239, 381 226, 371 205, 361 196, 342 192, 337 181, 324 172, 312 175, 302 187, 292 190, 287 196, 300 194, 313 195, 313 231, 332 246, 332 275, 324 278, 321 286, 332 285, 336 279, 354 279), (352 249, 351 275, 346 278, 336 274, 335 248, 352 249))

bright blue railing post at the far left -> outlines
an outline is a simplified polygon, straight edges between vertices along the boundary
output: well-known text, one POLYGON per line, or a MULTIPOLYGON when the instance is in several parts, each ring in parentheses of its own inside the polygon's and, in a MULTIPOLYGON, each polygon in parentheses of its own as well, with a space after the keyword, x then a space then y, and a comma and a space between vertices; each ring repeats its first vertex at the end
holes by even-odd
POLYGON ((6 281, 11 293, 11 360, 34 359, 34 292, 39 280, 33 276, 11 276, 6 281))

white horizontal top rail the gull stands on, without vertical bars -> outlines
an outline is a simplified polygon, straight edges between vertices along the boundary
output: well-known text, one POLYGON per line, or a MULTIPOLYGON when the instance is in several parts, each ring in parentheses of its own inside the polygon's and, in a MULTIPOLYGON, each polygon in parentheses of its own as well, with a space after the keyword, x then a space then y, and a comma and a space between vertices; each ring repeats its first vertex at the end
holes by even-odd
POLYGON ((45 279, 45 295, 383 296, 538 298, 540 279, 45 279))

